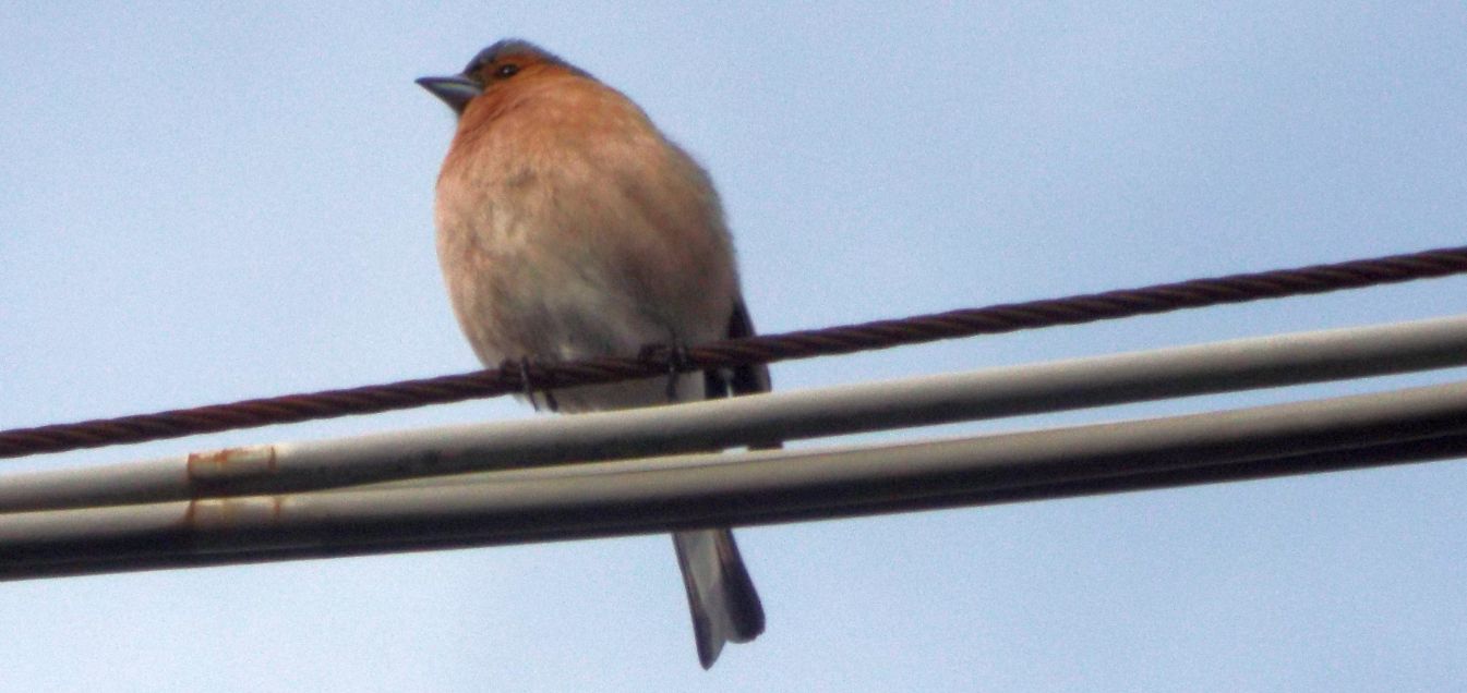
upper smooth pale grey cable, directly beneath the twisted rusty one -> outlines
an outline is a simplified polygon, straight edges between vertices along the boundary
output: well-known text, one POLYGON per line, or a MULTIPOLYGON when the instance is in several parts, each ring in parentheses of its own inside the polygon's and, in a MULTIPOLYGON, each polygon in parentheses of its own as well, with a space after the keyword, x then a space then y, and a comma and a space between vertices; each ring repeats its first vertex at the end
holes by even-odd
POLYGON ((1467 365, 1467 316, 1254 337, 631 412, 252 445, 0 476, 0 513, 282 494, 687 453, 1467 365))

